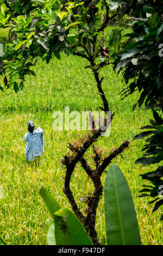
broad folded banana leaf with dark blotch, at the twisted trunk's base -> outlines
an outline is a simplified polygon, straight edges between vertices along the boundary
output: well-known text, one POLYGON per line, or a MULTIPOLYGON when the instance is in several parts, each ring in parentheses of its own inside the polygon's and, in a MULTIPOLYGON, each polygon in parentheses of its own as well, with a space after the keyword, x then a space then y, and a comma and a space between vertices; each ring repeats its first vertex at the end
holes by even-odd
POLYGON ((93 245, 76 215, 69 209, 54 214, 56 245, 93 245))

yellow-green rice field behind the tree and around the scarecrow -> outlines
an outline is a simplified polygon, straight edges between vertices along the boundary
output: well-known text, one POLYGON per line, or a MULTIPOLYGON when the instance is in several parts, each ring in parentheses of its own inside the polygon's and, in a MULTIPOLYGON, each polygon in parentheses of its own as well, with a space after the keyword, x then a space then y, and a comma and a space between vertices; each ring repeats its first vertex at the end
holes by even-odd
MULTIPOLYGON (((15 94, 14 89, 0 91, 0 186, 3 186, 3 198, 0 199, 0 237, 9 245, 45 245, 46 220, 48 211, 38 194, 42 181, 47 190, 63 206, 70 205, 62 191, 65 169, 60 159, 67 153, 68 142, 74 141, 79 131, 54 131, 52 114, 56 110, 97 111, 102 101, 97 94, 96 84, 90 70, 84 69, 87 61, 61 54, 61 60, 54 58, 49 65, 41 60, 34 67, 36 77, 28 76, 22 92, 15 94), (37 161, 27 163, 24 154, 27 121, 32 120, 35 127, 45 131, 45 153, 37 161)), ((122 76, 108 66, 101 71, 104 76, 103 89, 112 112, 115 112, 111 124, 111 134, 98 140, 98 144, 107 155, 126 139, 139 133, 139 128, 148 123, 151 111, 145 107, 132 107, 137 95, 121 101, 121 90, 126 86, 122 76)), ((0 85, 3 84, 1 78, 0 85)), ((144 182, 139 174, 152 171, 155 166, 141 167, 135 160, 141 156, 143 141, 131 142, 128 150, 118 156, 116 163, 126 177, 134 197, 137 219, 143 245, 162 245, 162 224, 159 221, 160 210, 152 214, 153 205, 147 198, 136 198, 144 182)), ((91 154, 91 150, 89 152, 91 154)), ((86 159, 91 164, 90 154, 86 159)), ((105 173, 102 176, 104 184, 105 173)), ((147 182, 146 182, 147 184, 147 182)), ((85 205, 80 202, 84 194, 91 193, 93 186, 87 180, 83 169, 78 165, 73 174, 71 188, 82 211, 85 205)), ((99 202, 96 229, 100 242, 106 244, 104 228, 104 200, 99 202)))

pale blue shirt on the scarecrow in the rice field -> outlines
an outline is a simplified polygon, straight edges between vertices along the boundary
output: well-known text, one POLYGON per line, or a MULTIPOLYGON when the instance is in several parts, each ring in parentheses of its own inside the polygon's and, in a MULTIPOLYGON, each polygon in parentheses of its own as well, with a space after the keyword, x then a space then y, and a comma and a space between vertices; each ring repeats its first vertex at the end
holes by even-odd
POLYGON ((44 151, 44 133, 40 127, 33 131, 33 133, 27 132, 24 136, 26 144, 26 160, 34 161, 34 157, 41 156, 44 151), (42 142, 41 142, 42 135, 42 142))

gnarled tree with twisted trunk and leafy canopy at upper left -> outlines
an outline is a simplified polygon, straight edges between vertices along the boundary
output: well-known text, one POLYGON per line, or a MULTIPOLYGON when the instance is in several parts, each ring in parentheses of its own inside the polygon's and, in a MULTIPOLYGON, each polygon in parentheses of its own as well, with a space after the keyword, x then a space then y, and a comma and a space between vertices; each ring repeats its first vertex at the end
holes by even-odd
MULTIPOLYGON (((122 2, 122 1, 121 1, 122 2)), ((9 39, 1 38, 3 55, 0 57, 0 74, 4 77, 2 91, 14 87, 16 93, 23 89, 27 74, 35 75, 31 66, 40 57, 47 64, 53 56, 60 58, 60 52, 74 54, 87 59, 88 65, 96 80, 98 93, 101 96, 105 112, 104 126, 107 127, 107 113, 111 110, 102 89, 103 77, 99 70, 111 64, 109 48, 101 45, 103 31, 112 19, 119 15, 118 9, 110 1, 1 1, 1 28, 9 29, 9 39)), ((122 9, 126 13, 127 7, 122 9)), ((121 16, 123 16, 121 14, 121 16)), ((111 120, 114 114, 111 114, 111 120)), ((92 117, 91 117, 92 118, 92 117)), ((129 145, 126 141, 109 156, 103 157, 101 149, 93 145, 101 137, 102 130, 93 129, 84 137, 69 144, 71 153, 64 156, 62 164, 66 167, 64 192, 74 214, 84 225, 93 244, 99 244, 95 230, 96 210, 102 196, 103 185, 101 175, 110 162, 129 145), (84 158, 86 151, 93 145, 92 169, 84 158), (87 208, 83 214, 74 200, 70 182, 71 176, 80 162, 86 174, 91 178, 95 190, 86 198, 87 208)))

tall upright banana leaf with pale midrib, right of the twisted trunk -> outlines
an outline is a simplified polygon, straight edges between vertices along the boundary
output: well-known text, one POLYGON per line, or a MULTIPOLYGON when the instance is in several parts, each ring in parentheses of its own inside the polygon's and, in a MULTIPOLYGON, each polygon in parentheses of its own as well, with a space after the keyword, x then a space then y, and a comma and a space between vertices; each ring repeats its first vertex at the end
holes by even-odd
POLYGON ((108 245, 141 245, 133 198, 116 164, 106 175, 104 198, 108 245))

